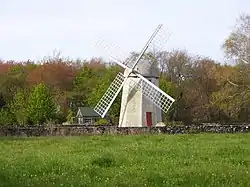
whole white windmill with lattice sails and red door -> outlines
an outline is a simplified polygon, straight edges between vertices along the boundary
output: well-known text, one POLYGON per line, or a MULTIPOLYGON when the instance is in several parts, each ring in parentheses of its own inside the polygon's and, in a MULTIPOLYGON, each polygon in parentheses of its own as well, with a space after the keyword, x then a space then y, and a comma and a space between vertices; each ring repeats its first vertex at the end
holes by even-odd
POLYGON ((116 75, 94 107, 94 111, 102 118, 105 117, 121 90, 119 127, 152 126, 161 122, 161 110, 168 112, 175 100, 158 87, 159 76, 155 63, 143 58, 161 28, 162 24, 158 25, 137 57, 124 63, 113 58, 125 71, 116 75))

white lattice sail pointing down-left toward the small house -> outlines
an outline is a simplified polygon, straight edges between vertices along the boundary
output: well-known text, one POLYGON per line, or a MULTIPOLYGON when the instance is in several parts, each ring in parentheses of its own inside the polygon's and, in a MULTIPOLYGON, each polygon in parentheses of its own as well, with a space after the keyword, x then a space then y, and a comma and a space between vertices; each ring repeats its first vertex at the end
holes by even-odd
POLYGON ((109 108, 115 101, 115 98, 121 91, 126 79, 122 73, 118 73, 107 91, 102 96, 101 100, 97 103, 94 111, 99 114, 102 118, 106 115, 109 108))

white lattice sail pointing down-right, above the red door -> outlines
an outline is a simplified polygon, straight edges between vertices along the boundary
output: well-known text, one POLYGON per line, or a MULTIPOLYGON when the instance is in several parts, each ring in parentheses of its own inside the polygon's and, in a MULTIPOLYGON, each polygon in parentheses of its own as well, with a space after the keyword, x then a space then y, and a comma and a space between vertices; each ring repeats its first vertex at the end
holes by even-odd
POLYGON ((129 85, 131 89, 135 88, 141 91, 143 96, 152 101, 163 112, 167 113, 175 100, 140 74, 136 75, 140 80, 138 82, 130 81, 129 85))

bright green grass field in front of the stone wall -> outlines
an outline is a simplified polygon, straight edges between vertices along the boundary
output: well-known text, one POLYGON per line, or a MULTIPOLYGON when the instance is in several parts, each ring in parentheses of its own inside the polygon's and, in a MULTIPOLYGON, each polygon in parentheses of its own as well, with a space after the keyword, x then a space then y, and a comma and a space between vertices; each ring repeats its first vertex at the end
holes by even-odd
POLYGON ((250 186, 250 134, 0 138, 0 186, 250 186))

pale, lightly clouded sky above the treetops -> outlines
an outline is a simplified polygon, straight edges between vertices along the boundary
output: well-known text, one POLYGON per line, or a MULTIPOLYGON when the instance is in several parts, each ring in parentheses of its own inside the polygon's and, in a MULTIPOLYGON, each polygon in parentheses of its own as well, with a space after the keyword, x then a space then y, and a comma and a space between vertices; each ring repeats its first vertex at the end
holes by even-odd
POLYGON ((37 61, 55 50, 71 59, 126 56, 163 24, 171 35, 162 50, 222 61, 241 13, 250 13, 249 0, 0 0, 0 59, 37 61))

